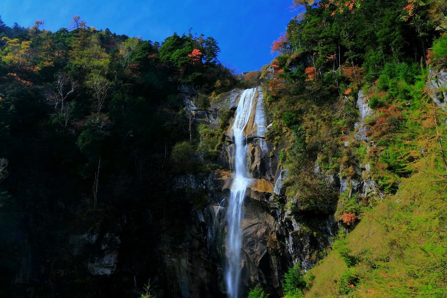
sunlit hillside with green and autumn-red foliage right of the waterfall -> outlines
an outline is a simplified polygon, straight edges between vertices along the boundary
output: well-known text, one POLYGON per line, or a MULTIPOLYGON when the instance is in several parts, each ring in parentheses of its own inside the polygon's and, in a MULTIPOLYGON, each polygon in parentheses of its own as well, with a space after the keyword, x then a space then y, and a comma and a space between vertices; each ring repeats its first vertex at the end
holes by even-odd
POLYGON ((289 170, 285 208, 333 210, 340 229, 306 285, 285 281, 286 297, 445 297, 446 111, 432 99, 445 89, 426 82, 447 66, 447 3, 295 3, 261 74, 274 73, 267 139, 289 170))

